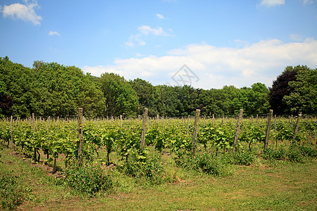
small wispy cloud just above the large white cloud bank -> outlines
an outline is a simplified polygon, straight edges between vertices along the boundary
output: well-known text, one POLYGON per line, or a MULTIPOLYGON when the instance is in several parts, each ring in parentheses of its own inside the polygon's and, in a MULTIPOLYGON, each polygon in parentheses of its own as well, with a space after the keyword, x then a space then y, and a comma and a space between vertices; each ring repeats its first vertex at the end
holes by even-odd
POLYGON ((128 41, 125 42, 125 46, 133 47, 136 44, 140 46, 144 46, 146 42, 144 41, 144 37, 147 37, 149 34, 154 36, 163 36, 163 37, 172 37, 172 34, 168 34, 163 30, 162 27, 152 28, 149 25, 142 25, 137 28, 140 32, 139 34, 130 35, 128 41))

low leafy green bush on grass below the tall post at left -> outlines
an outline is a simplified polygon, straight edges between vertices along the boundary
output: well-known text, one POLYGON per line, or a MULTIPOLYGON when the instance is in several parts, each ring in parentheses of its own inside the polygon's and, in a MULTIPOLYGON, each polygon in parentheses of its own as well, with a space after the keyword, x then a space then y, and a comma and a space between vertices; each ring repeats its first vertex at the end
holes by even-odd
POLYGON ((102 165, 73 166, 66 170, 66 175, 64 181, 68 186, 88 196, 113 188, 113 181, 102 165))

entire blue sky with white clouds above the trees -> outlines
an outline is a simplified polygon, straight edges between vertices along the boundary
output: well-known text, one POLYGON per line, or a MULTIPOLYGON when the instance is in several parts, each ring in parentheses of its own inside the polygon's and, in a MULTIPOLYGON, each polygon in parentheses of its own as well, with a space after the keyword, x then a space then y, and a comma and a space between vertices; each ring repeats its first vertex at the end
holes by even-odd
POLYGON ((0 57, 153 85, 272 86, 317 68, 317 0, 0 0, 0 57))

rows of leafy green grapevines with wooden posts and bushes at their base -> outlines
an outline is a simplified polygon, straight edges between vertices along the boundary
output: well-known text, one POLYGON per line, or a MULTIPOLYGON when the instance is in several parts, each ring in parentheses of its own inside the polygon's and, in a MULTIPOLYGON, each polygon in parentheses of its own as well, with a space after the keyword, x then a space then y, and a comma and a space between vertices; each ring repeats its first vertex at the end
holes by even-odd
POLYGON ((164 167, 165 157, 173 168, 213 177, 230 176, 230 165, 259 160, 305 162, 316 158, 316 134, 317 119, 302 115, 166 118, 146 113, 89 120, 79 113, 0 122, 3 146, 64 172, 60 182, 88 196, 118 185, 109 171, 150 186, 180 180, 177 171, 164 167))

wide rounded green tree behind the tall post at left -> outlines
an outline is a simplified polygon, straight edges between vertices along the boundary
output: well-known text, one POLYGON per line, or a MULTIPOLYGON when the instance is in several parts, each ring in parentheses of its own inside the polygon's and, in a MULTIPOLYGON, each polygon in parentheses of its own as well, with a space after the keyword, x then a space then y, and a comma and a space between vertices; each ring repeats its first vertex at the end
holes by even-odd
POLYGON ((80 68, 57 63, 35 61, 33 64, 36 88, 32 113, 42 116, 70 116, 83 108, 84 115, 104 114, 104 96, 91 75, 80 68))

